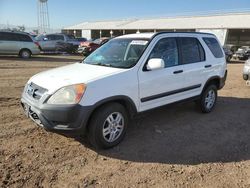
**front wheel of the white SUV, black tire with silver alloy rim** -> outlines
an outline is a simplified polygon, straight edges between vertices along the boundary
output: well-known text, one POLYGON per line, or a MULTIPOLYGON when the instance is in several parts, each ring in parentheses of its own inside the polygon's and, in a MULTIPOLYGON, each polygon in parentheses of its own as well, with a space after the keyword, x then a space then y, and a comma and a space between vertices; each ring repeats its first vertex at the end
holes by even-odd
POLYGON ((119 144, 125 137, 129 118, 126 109, 119 103, 110 103, 99 108, 89 124, 88 138, 95 148, 107 149, 119 144))

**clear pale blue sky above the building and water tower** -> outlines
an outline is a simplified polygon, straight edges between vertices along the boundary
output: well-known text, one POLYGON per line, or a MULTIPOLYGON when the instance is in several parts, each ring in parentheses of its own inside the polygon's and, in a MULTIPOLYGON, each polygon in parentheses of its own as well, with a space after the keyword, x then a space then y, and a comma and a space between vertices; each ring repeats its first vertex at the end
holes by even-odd
MULTIPOLYGON (((85 21, 250 12, 250 0, 48 0, 50 26, 85 21)), ((0 0, 0 24, 37 26, 37 0, 0 0)))

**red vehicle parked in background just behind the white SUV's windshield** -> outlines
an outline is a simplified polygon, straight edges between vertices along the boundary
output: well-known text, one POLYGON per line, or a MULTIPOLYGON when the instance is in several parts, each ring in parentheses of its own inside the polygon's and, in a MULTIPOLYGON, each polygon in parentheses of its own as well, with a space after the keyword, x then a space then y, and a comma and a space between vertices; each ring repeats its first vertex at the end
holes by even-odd
POLYGON ((95 51, 97 48, 99 48, 101 45, 105 44, 109 40, 110 38, 103 37, 96 39, 94 41, 83 42, 79 45, 78 53, 83 54, 84 56, 88 56, 89 54, 91 54, 93 51, 95 51))

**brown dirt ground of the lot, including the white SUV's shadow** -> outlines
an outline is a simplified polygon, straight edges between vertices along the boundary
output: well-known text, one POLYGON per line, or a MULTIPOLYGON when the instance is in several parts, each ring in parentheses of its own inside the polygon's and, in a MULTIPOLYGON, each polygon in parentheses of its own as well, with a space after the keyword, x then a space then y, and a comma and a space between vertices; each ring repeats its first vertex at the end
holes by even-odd
POLYGON ((210 114, 193 102, 145 113, 117 147, 46 132, 23 114, 35 73, 80 60, 0 56, 0 187, 250 187, 250 87, 242 63, 228 65, 210 114))

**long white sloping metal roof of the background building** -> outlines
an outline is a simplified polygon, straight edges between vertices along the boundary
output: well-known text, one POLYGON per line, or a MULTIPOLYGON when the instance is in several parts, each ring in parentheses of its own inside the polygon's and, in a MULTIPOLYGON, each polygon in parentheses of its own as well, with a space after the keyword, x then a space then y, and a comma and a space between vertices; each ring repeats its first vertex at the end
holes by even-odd
POLYGON ((182 16, 152 19, 84 22, 66 27, 68 30, 137 30, 137 29, 250 29, 250 13, 210 16, 182 16))

